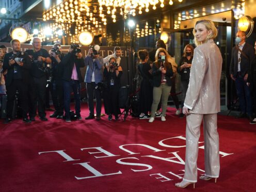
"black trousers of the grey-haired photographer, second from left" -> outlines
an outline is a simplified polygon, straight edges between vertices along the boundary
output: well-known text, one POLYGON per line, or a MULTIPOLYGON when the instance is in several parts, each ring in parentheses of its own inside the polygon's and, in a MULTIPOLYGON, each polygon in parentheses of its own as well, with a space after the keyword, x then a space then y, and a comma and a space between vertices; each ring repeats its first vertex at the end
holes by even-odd
POLYGON ((46 90, 46 77, 40 78, 32 77, 29 86, 29 117, 35 117, 37 113, 40 117, 45 117, 45 90, 46 90))

